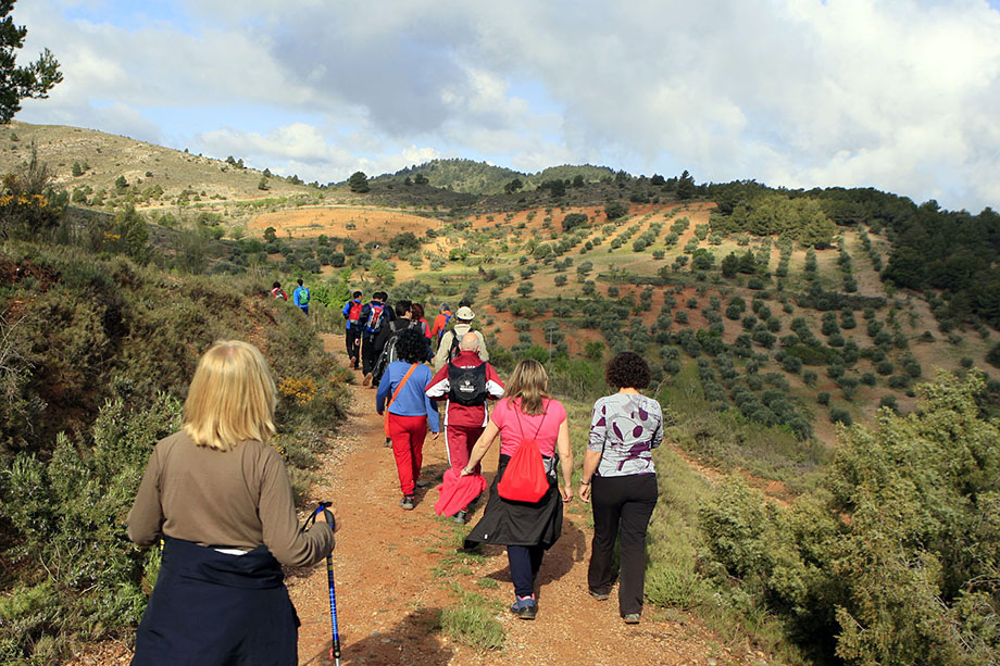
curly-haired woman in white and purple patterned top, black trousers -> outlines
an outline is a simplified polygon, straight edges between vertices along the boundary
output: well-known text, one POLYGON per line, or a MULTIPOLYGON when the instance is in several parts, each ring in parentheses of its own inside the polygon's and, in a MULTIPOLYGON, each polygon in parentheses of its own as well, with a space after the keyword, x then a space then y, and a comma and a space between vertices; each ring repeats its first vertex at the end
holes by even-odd
POLYGON ((639 354, 616 355, 604 376, 618 392, 593 403, 579 487, 580 499, 590 502, 593 511, 587 583, 595 599, 608 599, 621 527, 618 613, 626 624, 635 625, 642 613, 646 530, 658 497, 652 450, 663 441, 663 414, 660 403, 639 393, 650 380, 649 365, 639 354))

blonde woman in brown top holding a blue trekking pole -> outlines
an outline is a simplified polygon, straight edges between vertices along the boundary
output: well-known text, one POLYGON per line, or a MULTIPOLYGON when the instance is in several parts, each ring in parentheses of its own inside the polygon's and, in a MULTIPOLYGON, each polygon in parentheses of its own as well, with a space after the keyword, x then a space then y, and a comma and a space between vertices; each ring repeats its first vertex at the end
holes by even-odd
POLYGON ((179 432, 157 443, 128 514, 140 545, 163 539, 133 664, 295 664, 299 620, 282 564, 334 549, 302 531, 274 433, 274 380, 260 351, 216 342, 195 370, 179 432))

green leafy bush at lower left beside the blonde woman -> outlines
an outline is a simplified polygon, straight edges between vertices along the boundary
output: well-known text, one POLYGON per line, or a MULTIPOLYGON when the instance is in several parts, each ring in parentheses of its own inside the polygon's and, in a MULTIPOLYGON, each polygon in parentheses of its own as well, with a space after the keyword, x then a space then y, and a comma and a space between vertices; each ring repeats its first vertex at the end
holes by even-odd
POLYGON ((60 436, 47 463, 24 453, 13 461, 5 472, 0 515, 22 541, 7 554, 15 563, 41 563, 42 582, 25 594, 51 605, 33 611, 33 630, 27 632, 9 632, 26 627, 4 623, 0 643, 11 650, 4 656, 37 657, 35 643, 41 633, 35 631, 96 640, 139 621, 154 582, 145 581, 143 574, 159 552, 132 545, 124 523, 151 444, 178 428, 179 417, 179 402, 166 394, 141 411, 115 399, 95 424, 92 450, 80 451, 60 436), (38 617, 50 613, 54 617, 38 617))

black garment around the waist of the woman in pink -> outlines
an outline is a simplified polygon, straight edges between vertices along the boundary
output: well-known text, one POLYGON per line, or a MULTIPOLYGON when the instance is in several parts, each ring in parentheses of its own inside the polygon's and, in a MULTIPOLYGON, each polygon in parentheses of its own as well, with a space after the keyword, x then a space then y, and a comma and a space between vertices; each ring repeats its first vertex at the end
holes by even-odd
POLYGON ((563 501, 555 476, 549 475, 549 490, 538 502, 504 500, 497 492, 497 483, 503 478, 510 460, 509 455, 500 455, 500 465, 489 487, 489 500, 483 519, 465 537, 465 543, 541 545, 548 550, 562 535, 563 501))

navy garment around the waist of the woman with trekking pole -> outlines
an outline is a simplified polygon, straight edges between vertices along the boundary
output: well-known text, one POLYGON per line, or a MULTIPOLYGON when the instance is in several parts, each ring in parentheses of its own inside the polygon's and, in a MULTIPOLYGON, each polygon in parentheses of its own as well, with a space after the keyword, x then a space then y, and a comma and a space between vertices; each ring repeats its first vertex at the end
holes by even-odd
POLYGON ((132 663, 297 664, 299 618, 284 580, 264 545, 226 555, 166 538, 132 663))

